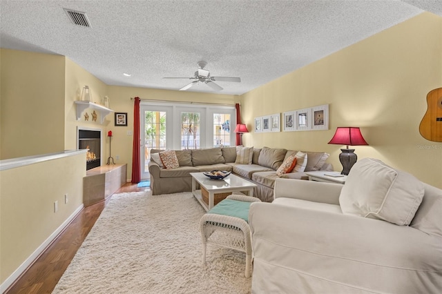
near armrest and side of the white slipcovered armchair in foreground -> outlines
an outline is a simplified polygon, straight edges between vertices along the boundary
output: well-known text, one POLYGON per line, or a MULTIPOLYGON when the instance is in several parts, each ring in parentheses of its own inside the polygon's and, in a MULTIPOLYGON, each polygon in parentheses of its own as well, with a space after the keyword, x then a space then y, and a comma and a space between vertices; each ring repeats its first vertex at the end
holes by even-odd
POLYGON ((438 293, 442 286, 442 259, 434 258, 442 238, 410 226, 264 202, 251 204, 249 225, 252 286, 263 293, 438 293))

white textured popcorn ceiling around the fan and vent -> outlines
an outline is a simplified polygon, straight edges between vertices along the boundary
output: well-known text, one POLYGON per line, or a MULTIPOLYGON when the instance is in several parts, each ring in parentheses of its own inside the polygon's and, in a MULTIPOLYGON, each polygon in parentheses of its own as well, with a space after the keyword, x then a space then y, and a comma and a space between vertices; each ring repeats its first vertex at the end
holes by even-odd
MULTIPOLYGON (((6 1, 0 46, 64 55, 108 85, 178 90, 197 62, 240 95, 442 1, 6 1), (86 12, 91 28, 63 8, 86 12), (124 72, 131 77, 125 77, 124 72)), ((191 88, 215 92, 205 84, 191 88)))

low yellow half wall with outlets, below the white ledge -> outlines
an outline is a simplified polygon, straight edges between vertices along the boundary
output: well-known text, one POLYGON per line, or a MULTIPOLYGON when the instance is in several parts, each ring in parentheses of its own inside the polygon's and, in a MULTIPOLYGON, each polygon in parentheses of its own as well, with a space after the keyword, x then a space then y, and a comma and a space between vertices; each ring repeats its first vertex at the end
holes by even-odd
POLYGON ((0 172, 0 284, 82 206, 84 158, 81 153, 0 172))

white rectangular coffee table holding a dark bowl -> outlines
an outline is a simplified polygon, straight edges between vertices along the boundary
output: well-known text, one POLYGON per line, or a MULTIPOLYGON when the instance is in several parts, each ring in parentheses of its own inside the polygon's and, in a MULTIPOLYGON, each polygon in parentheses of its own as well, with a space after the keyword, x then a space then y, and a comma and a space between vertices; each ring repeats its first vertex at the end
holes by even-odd
POLYGON ((245 195, 253 196, 253 188, 256 187, 256 184, 242 179, 237 175, 229 175, 224 179, 211 179, 203 173, 191 173, 191 176, 192 194, 206 211, 213 207, 215 194, 241 192, 245 195), (197 183, 209 193, 209 204, 203 201, 201 190, 196 190, 197 183))

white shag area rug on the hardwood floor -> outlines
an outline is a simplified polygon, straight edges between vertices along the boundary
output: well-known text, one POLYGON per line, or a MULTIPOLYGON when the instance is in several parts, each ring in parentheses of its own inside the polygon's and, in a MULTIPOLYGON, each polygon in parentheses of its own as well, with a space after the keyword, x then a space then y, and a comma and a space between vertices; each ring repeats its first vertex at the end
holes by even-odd
POLYGON ((115 194, 52 293, 250 293, 245 253, 208 244, 191 193, 115 194))

